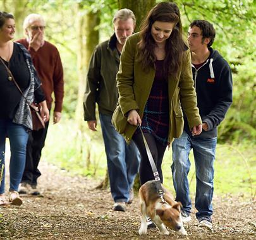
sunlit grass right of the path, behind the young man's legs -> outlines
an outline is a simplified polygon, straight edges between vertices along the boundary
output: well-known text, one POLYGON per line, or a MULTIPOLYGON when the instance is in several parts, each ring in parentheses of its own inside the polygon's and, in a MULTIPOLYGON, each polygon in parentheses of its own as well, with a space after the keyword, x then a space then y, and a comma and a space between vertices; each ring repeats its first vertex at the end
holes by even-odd
MULTIPOLYGON (((173 189, 171 179, 171 150, 164 156, 163 173, 168 188, 173 189)), ((195 194, 195 164, 193 153, 190 152, 192 163, 188 181, 190 191, 195 194)), ((224 195, 227 193, 255 199, 256 189, 256 158, 255 147, 243 143, 242 145, 217 144, 216 160, 214 162, 214 193, 224 195)))

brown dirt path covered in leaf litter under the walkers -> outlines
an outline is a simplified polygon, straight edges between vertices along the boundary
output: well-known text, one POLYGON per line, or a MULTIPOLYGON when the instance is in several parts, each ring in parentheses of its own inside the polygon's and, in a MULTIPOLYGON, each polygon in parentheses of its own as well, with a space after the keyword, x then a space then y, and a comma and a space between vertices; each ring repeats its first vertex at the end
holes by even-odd
POLYGON ((214 230, 198 229, 195 214, 185 225, 187 237, 160 236, 150 229, 138 235, 138 199, 128 211, 114 212, 108 191, 97 181, 71 177, 42 162, 42 197, 24 196, 21 207, 0 208, 0 239, 256 239, 256 204, 238 198, 214 198, 214 230))

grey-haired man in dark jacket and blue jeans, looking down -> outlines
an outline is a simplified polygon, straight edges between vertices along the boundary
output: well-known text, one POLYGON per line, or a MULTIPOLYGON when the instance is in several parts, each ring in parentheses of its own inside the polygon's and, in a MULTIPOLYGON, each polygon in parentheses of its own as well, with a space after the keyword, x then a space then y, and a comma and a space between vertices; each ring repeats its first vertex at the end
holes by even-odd
POLYGON ((133 12, 126 8, 119 10, 113 18, 113 25, 113 36, 97 45, 90 59, 83 109, 88 128, 97 131, 95 104, 99 107, 111 194, 115 202, 113 210, 125 212, 126 203, 133 200, 133 182, 140 155, 135 143, 127 145, 123 136, 114 129, 111 118, 118 102, 116 73, 119 57, 126 38, 135 28, 133 12))

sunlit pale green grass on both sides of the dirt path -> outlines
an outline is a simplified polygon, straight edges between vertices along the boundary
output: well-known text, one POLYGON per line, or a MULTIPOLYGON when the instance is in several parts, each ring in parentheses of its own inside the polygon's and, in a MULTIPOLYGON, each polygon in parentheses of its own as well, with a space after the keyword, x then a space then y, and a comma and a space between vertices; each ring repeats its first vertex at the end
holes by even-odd
MULTIPOLYGON (((106 174, 107 160, 101 129, 92 132, 87 128, 77 131, 73 121, 50 125, 43 159, 66 169, 70 174, 103 179, 106 174)), ((255 200, 256 194, 256 148, 253 143, 240 145, 217 144, 214 163, 214 194, 234 194, 255 200)), ((193 153, 188 181, 191 195, 195 195, 195 166, 193 153)), ((174 192, 171 176, 171 148, 166 150, 162 164, 164 185, 174 192)))

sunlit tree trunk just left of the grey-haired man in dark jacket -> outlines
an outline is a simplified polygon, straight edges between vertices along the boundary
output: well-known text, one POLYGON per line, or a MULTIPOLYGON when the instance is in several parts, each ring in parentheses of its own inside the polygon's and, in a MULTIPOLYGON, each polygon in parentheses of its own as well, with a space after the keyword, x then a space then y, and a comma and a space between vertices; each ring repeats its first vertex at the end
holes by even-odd
POLYGON ((85 80, 87 75, 90 56, 94 51, 95 45, 99 42, 99 31, 95 30, 100 23, 99 11, 93 13, 86 11, 83 7, 85 3, 77 4, 77 30, 78 30, 78 49, 77 49, 77 69, 78 69, 78 95, 75 111, 75 123, 77 132, 76 151, 87 151, 86 166, 90 166, 90 136, 86 133, 85 122, 83 121, 83 95, 85 93, 85 80))

